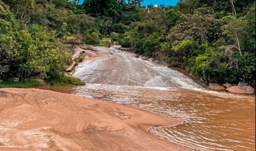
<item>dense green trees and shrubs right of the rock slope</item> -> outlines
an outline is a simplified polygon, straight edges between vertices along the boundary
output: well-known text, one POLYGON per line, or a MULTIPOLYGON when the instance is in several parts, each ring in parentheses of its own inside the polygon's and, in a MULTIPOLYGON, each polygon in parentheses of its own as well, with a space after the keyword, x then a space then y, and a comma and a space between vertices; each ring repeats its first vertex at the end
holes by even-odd
POLYGON ((181 1, 138 14, 119 34, 119 44, 207 83, 244 81, 255 87, 254 1, 181 1))

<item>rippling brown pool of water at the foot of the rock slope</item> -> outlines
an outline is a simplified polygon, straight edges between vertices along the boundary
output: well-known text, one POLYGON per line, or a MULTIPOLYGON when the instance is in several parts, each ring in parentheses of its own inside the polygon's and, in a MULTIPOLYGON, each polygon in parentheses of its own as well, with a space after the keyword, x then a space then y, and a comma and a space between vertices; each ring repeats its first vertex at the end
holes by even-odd
POLYGON ((195 150, 255 150, 255 96, 182 88, 87 84, 75 94, 182 119, 154 135, 195 150))

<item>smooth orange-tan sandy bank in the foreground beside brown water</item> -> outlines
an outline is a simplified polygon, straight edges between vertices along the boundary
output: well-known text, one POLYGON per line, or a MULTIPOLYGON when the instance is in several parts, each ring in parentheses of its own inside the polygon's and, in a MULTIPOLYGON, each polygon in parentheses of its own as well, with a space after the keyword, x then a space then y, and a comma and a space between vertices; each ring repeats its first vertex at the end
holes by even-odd
POLYGON ((0 89, 0 150, 188 150, 150 135, 182 121, 39 89, 0 89))

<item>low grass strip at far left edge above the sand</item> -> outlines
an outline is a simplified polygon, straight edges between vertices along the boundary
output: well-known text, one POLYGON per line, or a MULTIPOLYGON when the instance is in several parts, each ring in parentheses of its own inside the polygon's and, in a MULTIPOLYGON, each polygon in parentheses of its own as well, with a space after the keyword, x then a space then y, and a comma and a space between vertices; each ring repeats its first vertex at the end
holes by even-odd
POLYGON ((37 80, 21 80, 14 82, 14 79, 0 80, 0 88, 29 88, 38 87, 42 84, 37 80))

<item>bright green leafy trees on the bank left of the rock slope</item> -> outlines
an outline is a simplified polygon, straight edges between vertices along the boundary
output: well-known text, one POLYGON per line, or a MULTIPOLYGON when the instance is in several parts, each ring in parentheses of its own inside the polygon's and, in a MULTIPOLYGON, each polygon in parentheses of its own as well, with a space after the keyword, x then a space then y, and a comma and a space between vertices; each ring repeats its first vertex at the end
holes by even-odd
POLYGON ((60 50, 63 47, 55 39, 54 32, 46 32, 36 24, 20 28, 14 15, 2 2, 0 16, 0 78, 29 78, 41 74, 48 79, 63 74, 63 64, 70 54, 60 50))

